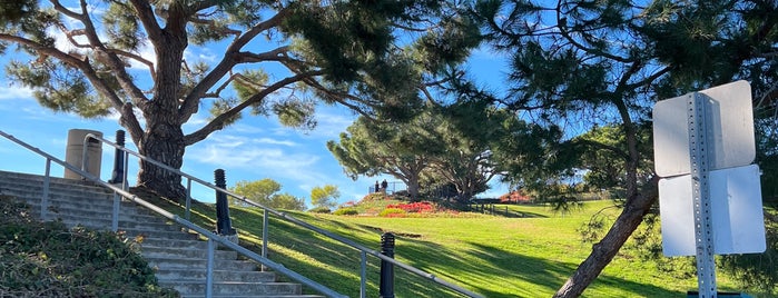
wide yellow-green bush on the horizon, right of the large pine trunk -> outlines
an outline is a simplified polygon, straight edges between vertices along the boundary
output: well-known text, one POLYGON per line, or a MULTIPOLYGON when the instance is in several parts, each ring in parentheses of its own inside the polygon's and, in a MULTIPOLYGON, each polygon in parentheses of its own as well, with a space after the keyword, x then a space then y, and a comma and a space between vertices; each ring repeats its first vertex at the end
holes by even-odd
MULTIPOLYGON (((305 201, 288 193, 278 193, 280 183, 265 178, 256 181, 238 181, 230 190, 246 199, 273 209, 305 210, 305 201)), ((244 205, 230 197, 230 203, 244 205)))

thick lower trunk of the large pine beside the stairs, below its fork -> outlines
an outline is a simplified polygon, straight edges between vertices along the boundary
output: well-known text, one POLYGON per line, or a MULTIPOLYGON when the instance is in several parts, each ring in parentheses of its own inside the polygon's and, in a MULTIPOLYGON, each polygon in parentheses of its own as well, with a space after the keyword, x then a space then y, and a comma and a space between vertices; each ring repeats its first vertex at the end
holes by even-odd
MULTIPOLYGON (((147 129, 146 136, 138 146, 141 155, 163 162, 174 169, 180 169, 184 163, 184 132, 180 126, 156 125, 147 129)), ((186 188, 181 186, 181 177, 150 162, 140 161, 138 187, 146 188, 159 196, 170 199, 186 198, 186 188)))

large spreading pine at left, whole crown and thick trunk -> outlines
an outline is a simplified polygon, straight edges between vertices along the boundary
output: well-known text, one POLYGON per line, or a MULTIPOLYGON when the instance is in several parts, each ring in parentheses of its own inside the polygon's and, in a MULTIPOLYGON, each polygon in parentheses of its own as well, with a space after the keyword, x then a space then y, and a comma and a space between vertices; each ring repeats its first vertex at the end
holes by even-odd
MULTIPOLYGON (((22 52, 8 77, 46 108, 118 115, 141 155, 176 169, 188 146, 248 113, 309 128, 323 102, 402 118, 432 79, 420 69, 463 59, 456 18, 441 1, 48 2, 30 13, 30 0, 0 4, 18 19, 0 28, 0 51, 22 52), (196 50, 213 62, 187 56, 196 50), (185 133, 200 109, 211 117, 185 133)), ((180 180, 140 162, 141 187, 183 198, 180 180)))

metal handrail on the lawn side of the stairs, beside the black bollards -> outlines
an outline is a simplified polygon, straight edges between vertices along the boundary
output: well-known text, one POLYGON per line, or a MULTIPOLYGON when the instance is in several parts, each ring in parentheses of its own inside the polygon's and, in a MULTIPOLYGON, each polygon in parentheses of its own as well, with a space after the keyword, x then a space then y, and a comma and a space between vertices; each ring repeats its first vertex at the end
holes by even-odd
MULTIPOLYGON (((405 269, 405 270, 407 270, 407 271, 410 271, 410 272, 412 272, 412 274, 415 274, 415 275, 417 275, 417 276, 424 277, 424 278, 426 278, 426 279, 429 279, 429 280, 431 280, 431 281, 434 281, 434 282, 436 282, 436 284, 443 286, 443 287, 446 287, 446 288, 449 288, 449 289, 451 289, 451 290, 453 290, 453 291, 456 291, 456 292, 459 292, 459 294, 465 295, 465 296, 467 296, 467 297, 483 297, 482 295, 475 294, 475 292, 470 291, 470 290, 467 290, 467 289, 464 289, 464 288, 462 288, 462 287, 460 287, 460 286, 457 286, 457 285, 454 285, 454 284, 451 284, 451 282, 449 282, 449 281, 446 281, 446 280, 444 280, 444 279, 441 279, 441 278, 436 277, 436 276, 433 275, 433 274, 425 272, 425 271, 423 271, 423 270, 421 270, 421 269, 418 269, 418 268, 415 268, 415 267, 410 266, 410 265, 407 265, 407 264, 404 264, 404 262, 401 262, 401 261, 398 261, 398 260, 395 260, 394 258, 386 257, 386 256, 384 256, 383 254, 381 254, 381 252, 378 252, 378 251, 376 251, 376 250, 374 250, 374 249, 370 249, 370 248, 367 248, 367 247, 365 247, 365 246, 362 246, 362 245, 360 245, 360 244, 357 244, 357 242, 355 242, 355 241, 352 241, 352 240, 348 239, 348 238, 345 238, 345 237, 343 237, 343 236, 333 234, 333 232, 331 232, 331 231, 328 231, 328 230, 318 228, 318 227, 313 226, 313 225, 311 225, 311 224, 308 224, 308 222, 305 222, 305 221, 303 221, 303 220, 299 220, 299 219, 297 219, 297 218, 294 218, 294 217, 292 217, 292 216, 288 216, 288 215, 286 215, 285 212, 282 212, 282 211, 275 210, 275 209, 273 209, 273 208, 269 208, 269 207, 267 207, 267 206, 264 206, 264 205, 262 205, 262 203, 252 201, 252 200, 247 199, 246 197, 240 196, 240 195, 238 195, 238 193, 235 193, 235 192, 233 192, 233 191, 230 191, 230 190, 228 190, 228 189, 224 189, 224 188, 217 187, 216 185, 213 185, 213 183, 207 182, 207 181, 205 181, 205 180, 198 179, 197 177, 194 177, 194 176, 191 176, 191 175, 188 175, 188 173, 186 173, 186 172, 183 172, 183 171, 180 171, 180 170, 178 170, 178 169, 174 169, 174 168, 171 168, 170 166, 167 166, 167 165, 165 165, 165 163, 163 163, 163 162, 159 162, 159 161, 156 161, 156 160, 150 159, 150 158, 148 158, 148 157, 145 157, 145 156, 138 153, 138 152, 135 152, 135 151, 132 151, 132 150, 130 150, 130 149, 125 148, 124 146, 119 146, 119 145, 117 145, 117 143, 110 141, 110 140, 107 140, 107 139, 105 139, 105 138, 102 138, 102 137, 100 137, 100 136, 97 136, 97 135, 93 135, 93 133, 87 133, 87 135, 85 136, 85 138, 83 138, 83 150, 85 150, 85 152, 86 152, 86 150, 87 150, 87 141, 88 141, 89 138, 99 140, 99 141, 104 142, 104 143, 107 143, 107 145, 109 145, 109 146, 111 146, 111 147, 114 147, 114 148, 116 148, 116 149, 119 149, 119 150, 124 151, 124 152, 127 153, 127 155, 132 155, 132 156, 135 156, 135 157, 137 157, 137 158, 139 158, 139 159, 142 159, 144 161, 147 161, 147 162, 152 163, 152 165, 155 165, 155 166, 157 166, 157 167, 160 167, 160 168, 166 169, 166 170, 168 170, 168 171, 170 171, 170 172, 174 172, 174 173, 176 173, 176 175, 179 175, 179 176, 181 176, 181 177, 187 178, 187 179, 188 179, 188 182, 187 182, 187 202, 186 202, 186 206, 187 206, 187 212, 186 212, 187 218, 186 218, 186 219, 187 219, 187 220, 188 220, 188 215, 189 215, 189 211, 188 211, 189 200, 191 199, 191 196, 190 196, 190 193, 188 193, 188 192, 189 192, 190 189, 191 189, 190 182, 191 182, 193 180, 194 180, 194 181, 197 181, 198 183, 200 183, 200 185, 203 185, 203 186, 205 186, 205 187, 208 187, 208 188, 210 188, 210 189, 214 189, 214 190, 216 190, 216 191, 221 191, 221 192, 224 192, 224 193, 227 193, 227 195, 229 195, 229 196, 232 196, 232 197, 234 197, 234 198, 236 198, 236 199, 239 199, 240 201, 246 202, 246 203, 248 203, 248 205, 250 205, 250 206, 262 208, 262 209, 265 211, 265 215, 263 216, 263 217, 264 217, 264 218, 263 218, 264 222, 263 222, 263 235, 262 235, 262 239, 263 239, 262 256, 263 256, 263 257, 267 257, 267 242, 266 242, 266 241, 267 241, 267 237, 266 237, 266 236, 267 236, 267 226, 268 226, 268 225, 267 225, 267 224, 268 224, 268 221, 267 221, 267 219, 268 219, 267 212, 270 212, 270 213, 273 213, 273 215, 275 215, 275 216, 277 216, 277 217, 280 217, 280 218, 283 218, 283 219, 285 219, 285 220, 287 220, 287 221, 289 221, 289 222, 293 222, 293 224, 295 224, 295 225, 298 225, 298 226, 304 227, 304 228, 306 228, 306 229, 309 229, 309 230, 312 230, 312 231, 318 232, 318 234, 324 235, 324 236, 326 236, 326 237, 328 237, 328 238, 331 238, 331 239, 333 239, 333 240, 336 240, 336 241, 338 241, 338 242, 341 242, 341 244, 343 244, 343 245, 346 245, 346 246, 349 246, 349 247, 352 247, 352 248, 354 248, 354 249, 356 249, 356 250, 360 250, 360 251, 361 251, 361 255, 363 255, 363 256, 364 256, 364 255, 374 256, 374 257, 376 257, 376 258, 378 258, 378 259, 381 259, 381 260, 384 260, 384 261, 387 261, 387 262, 390 262, 390 264, 393 264, 394 266, 397 266, 397 267, 400 267, 400 268, 403 268, 403 269, 405 269)), ((87 160, 86 158, 82 159, 83 162, 86 162, 86 160, 87 160)), ((126 161, 126 160, 125 160, 125 161, 126 161)), ((86 165, 82 165, 82 168, 86 169, 86 165)), ((124 173, 125 176, 124 176, 124 177, 125 177, 125 179, 127 179, 127 170, 128 170, 127 167, 125 167, 124 170, 125 170, 125 173, 124 173)), ((361 297, 363 297, 363 298, 364 298, 365 295, 366 295, 366 291, 365 291, 365 287, 366 287, 366 272, 365 272, 365 267, 366 267, 366 258, 362 258, 361 297)))

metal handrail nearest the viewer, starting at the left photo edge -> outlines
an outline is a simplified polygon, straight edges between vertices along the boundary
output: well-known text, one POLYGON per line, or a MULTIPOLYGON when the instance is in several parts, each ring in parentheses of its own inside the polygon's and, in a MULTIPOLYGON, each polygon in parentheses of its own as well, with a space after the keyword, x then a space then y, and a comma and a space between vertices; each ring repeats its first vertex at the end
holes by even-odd
MULTIPOLYGON (((42 150, 40 150, 40 149, 38 149, 38 148, 36 148, 36 147, 32 147, 32 146, 26 143, 26 142, 23 142, 23 141, 17 139, 17 138, 14 138, 13 136, 3 132, 2 130, 0 130, 0 136, 2 136, 2 137, 4 137, 4 138, 7 138, 7 139, 9 139, 9 140, 11 140, 11 141, 13 141, 13 142, 16 142, 16 143, 20 145, 20 146, 27 148, 28 150, 30 150, 30 151, 32 151, 32 152, 35 152, 35 153, 38 153, 39 156, 46 158, 46 165, 47 165, 47 169, 46 169, 47 176, 46 176, 46 178, 45 178, 45 183, 46 183, 46 185, 48 185, 48 181, 49 181, 49 176, 48 176, 48 173, 49 173, 49 166, 51 165, 51 161, 53 161, 53 162, 59 163, 60 166, 65 167, 66 169, 71 170, 71 171, 73 171, 73 172, 80 175, 81 177, 86 178, 87 180, 90 180, 90 181, 92 181, 92 182, 96 182, 96 183, 98 183, 98 185, 100 185, 100 186, 102 186, 102 187, 109 188, 109 189, 114 190, 115 193, 119 193, 119 195, 121 195, 122 197, 125 197, 125 198, 127 198, 127 199, 129 199, 129 200, 131 200, 131 201, 134 201, 134 202, 136 202, 136 203, 138 203, 138 205, 140 205, 140 206, 142 206, 142 207, 145 207, 145 208, 147 208, 147 209, 149 209, 149 210, 151 210, 151 211, 154 211, 154 212, 156 212, 156 213, 158 213, 158 215, 160 215, 160 216, 163 216, 163 217, 165 217, 165 218, 167 218, 167 219, 169 219, 169 220, 176 222, 176 224, 178 224, 178 225, 184 226, 185 228, 188 228, 188 229, 190 229, 190 230, 194 230, 194 231, 198 232, 198 234, 201 235, 201 236, 205 236, 205 237, 208 239, 208 248, 209 248, 209 249, 208 249, 208 265, 209 265, 209 266, 208 266, 208 268, 207 268, 207 270, 208 270, 208 276, 210 276, 210 272, 213 271, 213 258, 214 258, 214 247, 215 247, 213 242, 216 241, 216 242, 218 242, 219 245, 223 245, 223 246, 225 246, 225 247, 228 247, 228 248, 230 248, 230 249, 237 251, 238 254, 242 254, 242 255, 246 256, 247 258, 249 258, 249 259, 252 259, 252 260, 255 260, 255 261, 262 264, 263 266, 265 266, 265 267, 267 267, 267 268, 270 268, 270 269, 273 269, 273 270, 275 270, 275 271, 277 271, 277 272, 280 272, 282 275, 284 275, 284 276, 288 277, 288 278, 292 278, 292 279, 294 279, 294 280, 296 280, 296 281, 298 281, 298 282, 305 285, 305 286, 308 286, 308 287, 311 287, 312 289, 314 289, 314 290, 316 290, 316 291, 318 291, 318 292, 321 292, 321 294, 323 294, 323 295, 326 295, 327 297, 337 297, 337 298, 347 297, 347 296, 342 295, 342 294, 338 294, 338 292, 336 292, 336 291, 334 291, 334 290, 332 290, 332 289, 329 289, 329 288, 327 288, 327 287, 325 287, 325 286, 323 286, 323 285, 321 285, 321 284, 318 284, 318 282, 316 282, 316 281, 314 281, 314 280, 311 280, 311 279, 308 279, 307 277, 304 277, 304 276, 302 276, 302 275, 299 275, 299 274, 297 274, 297 272, 295 272, 295 271, 293 271, 293 270, 289 270, 289 269, 287 269, 286 267, 284 267, 284 266, 280 265, 280 264, 277 264, 277 262, 275 262, 275 261, 273 261, 273 260, 270 260, 270 259, 267 259, 266 257, 259 256, 259 255, 257 255, 256 252, 254 252, 254 251, 252 251, 252 250, 248 250, 248 249, 246 249, 246 248, 244 248, 244 247, 242 247, 242 246, 238 246, 238 245, 236 245, 236 244, 233 244, 232 241, 229 241, 229 240, 227 240, 227 239, 225 239, 225 238, 223 238, 223 237, 220 237, 220 236, 218 236, 218 235, 216 235, 216 234, 214 234, 214 232, 210 232, 210 231, 208 231, 207 229, 205 229, 205 228, 203 228, 203 227, 200 227, 200 226, 197 226, 197 225, 195 225, 194 222, 191 222, 191 221, 189 221, 189 220, 187 220, 187 219, 180 218, 179 216, 174 215, 174 213, 170 213, 170 212, 168 212, 167 210, 161 209, 161 208, 157 207, 157 206, 154 205, 154 203, 150 203, 150 202, 148 202, 148 201, 146 201, 146 200, 144 200, 144 199, 140 199, 140 198, 138 198, 138 196, 136 196, 136 195, 132 195, 132 193, 130 193, 130 192, 128 192, 128 191, 126 191, 126 190, 124 190, 124 189, 121 189, 121 188, 118 188, 118 187, 116 187, 116 186, 114 186, 114 185, 111 185, 111 183, 108 183, 108 182, 106 182, 106 181, 102 181, 102 180, 100 180, 99 177, 95 177, 95 176, 92 176, 91 173, 89 173, 89 172, 87 172, 87 171, 83 171, 83 170, 81 170, 81 169, 79 169, 79 168, 77 168, 77 167, 75 167, 75 166, 72 166, 72 165, 70 165, 70 163, 67 163, 67 162, 65 162, 65 161, 62 161, 62 160, 60 160, 60 159, 58 159, 58 158, 56 158, 56 157, 53 157, 53 156, 47 153, 47 152, 43 152, 42 150)), ((85 148, 86 148, 86 147, 85 147, 85 148)), ((45 192, 47 192, 47 191, 45 191, 45 192)), ((46 199, 48 199, 48 198, 45 198, 45 200, 46 200, 46 199)), ((118 216, 116 216, 116 215, 114 215, 114 217, 115 217, 115 218, 118 218, 118 216)), ((211 281, 209 280, 209 281, 208 281, 208 288, 210 288, 210 284, 211 284, 211 281)), ((206 295, 207 295, 207 296, 210 296, 209 294, 210 294, 210 292, 207 292, 206 295)))

